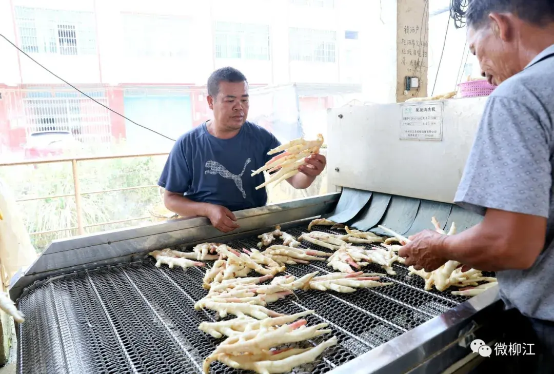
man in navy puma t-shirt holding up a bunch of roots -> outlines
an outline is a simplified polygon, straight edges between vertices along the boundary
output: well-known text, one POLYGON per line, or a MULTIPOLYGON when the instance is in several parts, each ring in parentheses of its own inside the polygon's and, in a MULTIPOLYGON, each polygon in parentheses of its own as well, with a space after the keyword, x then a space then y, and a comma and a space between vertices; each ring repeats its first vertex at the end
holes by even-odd
MULTIPOLYGON (((263 173, 250 176, 280 146, 269 131, 247 121, 248 82, 237 69, 221 68, 208 79, 208 105, 213 119, 179 137, 163 168, 158 185, 163 201, 182 217, 207 217, 222 232, 238 228, 232 211, 264 206, 268 200, 263 173)), ((325 156, 312 155, 300 173, 287 182, 309 187, 321 174, 325 156)))

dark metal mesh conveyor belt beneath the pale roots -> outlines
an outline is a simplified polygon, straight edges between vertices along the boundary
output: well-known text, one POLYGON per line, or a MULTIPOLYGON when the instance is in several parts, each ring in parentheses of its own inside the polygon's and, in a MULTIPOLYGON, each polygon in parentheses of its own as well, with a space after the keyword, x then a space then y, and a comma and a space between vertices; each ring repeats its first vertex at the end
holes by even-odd
MULTIPOLYGON (((295 236, 302 228, 286 230, 295 236)), ((326 230, 315 227, 315 230, 326 230)), ((326 230, 329 231, 329 230, 326 230)), ((255 247, 255 237, 228 243, 233 248, 255 247)), ((302 244, 315 248, 315 245, 302 244)), ((319 250, 325 250, 317 247, 319 250)), ((216 312, 197 311, 194 303, 202 288, 205 269, 169 269, 148 258, 135 263, 57 276, 25 291, 19 309, 19 373, 198 373, 202 362, 220 340, 198 330, 203 321, 216 321, 216 312)), ((315 363, 294 373, 325 373, 423 322, 467 298, 449 292, 424 291, 418 276, 394 265, 396 276, 384 276, 393 286, 358 289, 355 293, 296 291, 268 304, 276 312, 293 314, 315 310, 310 325, 325 321, 339 344, 327 349, 315 363)), ((320 270, 332 272, 326 262, 287 265, 301 276, 320 270)), ((383 270, 371 264, 366 272, 383 270)), ((253 276, 253 275, 250 275, 253 276)), ((228 318, 233 318, 229 316, 228 318)), ((312 344, 329 339, 320 336, 312 344)), ((239 373, 213 363, 212 373, 239 373)))

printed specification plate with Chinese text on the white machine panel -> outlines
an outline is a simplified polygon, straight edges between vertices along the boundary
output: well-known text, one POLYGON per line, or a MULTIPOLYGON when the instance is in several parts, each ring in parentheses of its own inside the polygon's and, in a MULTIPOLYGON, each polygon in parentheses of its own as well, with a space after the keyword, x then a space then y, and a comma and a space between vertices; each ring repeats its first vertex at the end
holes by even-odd
POLYGON ((442 140, 443 103, 402 104, 401 140, 442 140))

